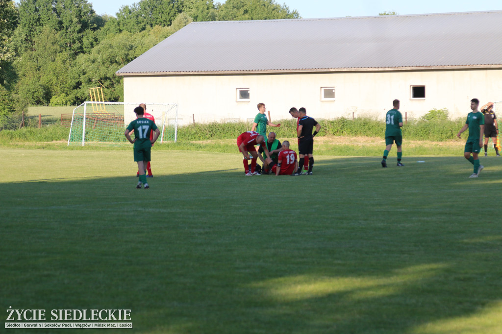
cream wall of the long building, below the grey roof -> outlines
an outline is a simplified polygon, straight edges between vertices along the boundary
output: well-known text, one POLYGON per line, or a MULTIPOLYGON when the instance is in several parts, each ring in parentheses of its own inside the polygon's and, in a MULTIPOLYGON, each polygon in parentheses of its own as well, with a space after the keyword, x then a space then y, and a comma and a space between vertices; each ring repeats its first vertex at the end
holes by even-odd
MULTIPOLYGON (((252 119, 263 102, 272 121, 289 118, 291 107, 305 107, 314 118, 371 115, 384 118, 392 100, 419 117, 433 108, 450 116, 469 112, 470 99, 481 105, 502 100, 502 69, 337 72, 249 75, 171 75, 124 77, 125 102, 177 103, 181 124, 252 119), (410 99, 411 85, 425 85, 426 98, 410 99), (335 87, 335 101, 321 101, 321 87, 335 87), (249 88, 250 101, 236 102, 236 89, 249 88)), ((134 115, 126 115, 126 122, 134 115)))

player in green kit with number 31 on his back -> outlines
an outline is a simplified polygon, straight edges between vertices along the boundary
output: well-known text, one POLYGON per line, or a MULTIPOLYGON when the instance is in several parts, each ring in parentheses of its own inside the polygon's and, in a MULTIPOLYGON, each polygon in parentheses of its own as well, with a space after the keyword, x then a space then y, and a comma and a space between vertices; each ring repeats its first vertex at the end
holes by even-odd
POLYGON ((399 100, 392 101, 394 109, 387 112, 385 117, 387 126, 385 128, 385 144, 387 145, 384 151, 384 158, 382 159, 382 167, 387 167, 387 156, 392 148, 392 144, 396 142, 398 147, 398 166, 404 166, 401 163, 401 158, 403 157, 403 135, 401 132, 401 127, 403 126, 403 115, 399 112, 399 100))

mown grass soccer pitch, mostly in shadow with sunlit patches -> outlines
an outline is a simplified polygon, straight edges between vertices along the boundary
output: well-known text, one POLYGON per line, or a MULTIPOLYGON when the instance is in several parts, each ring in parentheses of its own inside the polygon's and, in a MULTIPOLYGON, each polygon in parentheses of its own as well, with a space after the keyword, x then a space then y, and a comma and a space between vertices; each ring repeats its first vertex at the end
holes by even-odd
POLYGON ((155 150, 137 190, 132 149, 0 155, 4 309, 131 309, 138 333, 502 332, 502 159, 479 179, 462 156, 330 155, 246 178, 237 153, 155 150))

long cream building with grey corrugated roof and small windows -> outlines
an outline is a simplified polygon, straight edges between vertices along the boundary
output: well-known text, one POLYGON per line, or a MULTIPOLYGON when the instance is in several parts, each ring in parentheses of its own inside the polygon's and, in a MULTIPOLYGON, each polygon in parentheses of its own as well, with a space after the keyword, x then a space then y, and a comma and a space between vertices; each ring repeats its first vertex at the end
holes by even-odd
POLYGON ((420 116, 502 100, 502 11, 191 23, 116 72, 124 101, 178 103, 182 124, 420 116))

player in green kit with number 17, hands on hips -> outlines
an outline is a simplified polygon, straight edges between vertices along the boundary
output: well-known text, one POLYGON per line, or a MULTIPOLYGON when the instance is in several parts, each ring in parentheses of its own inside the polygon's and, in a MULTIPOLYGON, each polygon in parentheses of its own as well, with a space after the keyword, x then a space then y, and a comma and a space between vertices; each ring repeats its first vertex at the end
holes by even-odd
POLYGON ((147 183, 147 178, 145 175, 146 166, 148 161, 150 161, 150 151, 152 149, 152 144, 159 138, 160 130, 155 125, 155 122, 145 118, 145 109, 142 107, 134 108, 134 112, 138 117, 131 123, 124 132, 126 138, 134 144, 134 160, 138 162, 138 171, 140 173, 140 181, 136 188, 141 189, 142 185, 145 185, 145 189, 150 188, 147 183), (135 138, 131 139, 129 134, 134 130, 135 138), (150 140, 150 132, 154 130, 154 137, 150 140))

